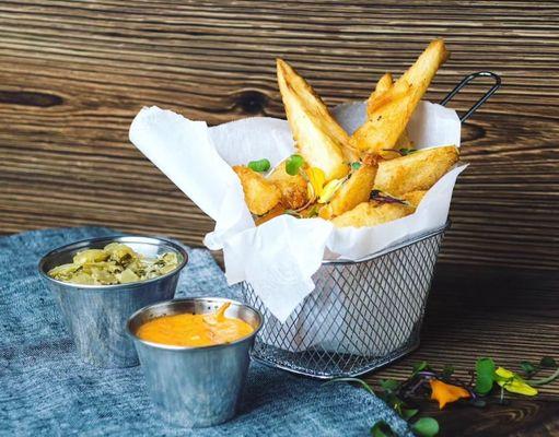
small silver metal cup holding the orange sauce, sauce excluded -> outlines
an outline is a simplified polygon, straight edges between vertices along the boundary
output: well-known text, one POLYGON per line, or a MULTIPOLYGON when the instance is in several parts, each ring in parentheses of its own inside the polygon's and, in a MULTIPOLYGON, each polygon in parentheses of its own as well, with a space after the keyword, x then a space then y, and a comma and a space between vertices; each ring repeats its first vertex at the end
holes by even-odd
POLYGON ((140 309, 128 320, 128 333, 140 356, 148 391, 161 417, 175 426, 205 427, 235 415, 245 382, 249 352, 263 323, 256 309, 224 298, 189 298, 140 309), (147 321, 179 314, 207 314, 231 302, 226 317, 238 318, 254 332, 235 342, 205 347, 152 343, 137 336, 147 321))

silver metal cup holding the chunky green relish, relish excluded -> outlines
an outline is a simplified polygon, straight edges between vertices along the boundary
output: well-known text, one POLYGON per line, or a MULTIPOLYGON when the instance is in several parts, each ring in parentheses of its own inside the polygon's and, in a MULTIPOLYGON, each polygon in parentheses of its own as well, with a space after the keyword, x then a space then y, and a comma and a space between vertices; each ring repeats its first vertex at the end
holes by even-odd
POLYGON ((162 238, 103 237, 78 241, 47 253, 38 264, 39 274, 55 294, 82 361, 97 367, 131 367, 139 364, 133 342, 126 333, 132 312, 175 296, 180 271, 188 256, 179 245, 162 238), (84 249, 101 249, 117 241, 145 258, 176 252, 178 267, 159 277, 129 284, 81 285, 57 281, 50 269, 72 261, 84 249))

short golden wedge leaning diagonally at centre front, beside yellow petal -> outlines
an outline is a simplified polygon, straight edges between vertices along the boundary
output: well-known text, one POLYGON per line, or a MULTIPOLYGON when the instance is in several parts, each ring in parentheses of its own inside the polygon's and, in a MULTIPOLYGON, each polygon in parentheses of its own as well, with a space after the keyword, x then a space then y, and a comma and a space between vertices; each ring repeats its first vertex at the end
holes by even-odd
POLYGON ((366 202, 374 186, 376 168, 376 165, 362 164, 336 191, 330 202, 321 209, 318 215, 329 220, 352 210, 362 202, 366 202))

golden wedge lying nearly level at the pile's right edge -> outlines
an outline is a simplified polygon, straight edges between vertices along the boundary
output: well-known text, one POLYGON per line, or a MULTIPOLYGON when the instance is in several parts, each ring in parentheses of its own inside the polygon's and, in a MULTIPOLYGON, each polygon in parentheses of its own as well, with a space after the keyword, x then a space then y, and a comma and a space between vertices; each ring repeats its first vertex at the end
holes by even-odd
POLYGON ((426 149, 395 160, 381 161, 374 189, 399 197, 428 190, 458 161, 454 145, 426 149))

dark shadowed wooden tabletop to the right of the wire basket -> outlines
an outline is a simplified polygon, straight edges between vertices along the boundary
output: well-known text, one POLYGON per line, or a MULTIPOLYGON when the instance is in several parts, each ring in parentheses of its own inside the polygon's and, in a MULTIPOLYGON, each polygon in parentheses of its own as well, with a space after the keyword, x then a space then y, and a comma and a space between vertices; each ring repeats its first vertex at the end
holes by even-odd
MULTIPOLYGON (((478 357, 519 373, 522 361, 558 357, 558 284, 557 273, 439 264, 420 349, 364 379, 379 388, 381 379, 404 380, 414 364, 427 361, 438 369, 452 365, 457 378, 469 381, 478 357)), ((458 403, 439 411, 428 400, 416 406, 438 418, 441 437, 559 435, 559 380, 539 388, 536 398, 506 393, 506 400, 500 405, 493 393, 485 409, 458 403)))

